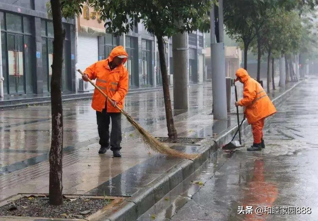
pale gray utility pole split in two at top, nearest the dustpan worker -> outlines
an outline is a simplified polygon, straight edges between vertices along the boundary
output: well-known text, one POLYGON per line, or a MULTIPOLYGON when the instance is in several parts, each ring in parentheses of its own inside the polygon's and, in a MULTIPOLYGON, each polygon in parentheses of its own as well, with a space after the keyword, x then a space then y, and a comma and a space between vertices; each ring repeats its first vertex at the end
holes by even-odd
POLYGON ((223 34, 223 0, 219 0, 218 7, 218 29, 220 38, 219 43, 215 42, 214 4, 212 5, 210 15, 213 118, 222 120, 227 119, 225 51, 223 34))

